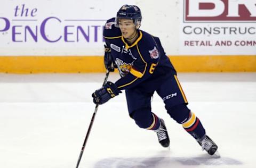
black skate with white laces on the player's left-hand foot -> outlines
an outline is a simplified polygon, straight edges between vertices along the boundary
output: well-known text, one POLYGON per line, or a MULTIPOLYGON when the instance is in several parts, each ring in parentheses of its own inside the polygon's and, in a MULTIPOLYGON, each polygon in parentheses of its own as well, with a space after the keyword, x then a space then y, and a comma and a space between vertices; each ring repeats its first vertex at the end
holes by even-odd
POLYGON ((155 130, 156 134, 157 134, 157 138, 159 143, 163 146, 163 147, 169 147, 170 145, 170 139, 164 124, 164 120, 163 119, 159 119, 160 120, 160 127, 155 130))

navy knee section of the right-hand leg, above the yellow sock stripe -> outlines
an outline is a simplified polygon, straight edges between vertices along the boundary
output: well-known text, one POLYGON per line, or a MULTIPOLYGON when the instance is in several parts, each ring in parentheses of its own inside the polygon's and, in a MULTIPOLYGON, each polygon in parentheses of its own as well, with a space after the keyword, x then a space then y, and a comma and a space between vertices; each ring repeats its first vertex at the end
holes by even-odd
POLYGON ((179 104, 173 106, 167 110, 167 113, 177 121, 178 123, 182 124, 189 119, 190 110, 186 104, 179 104))

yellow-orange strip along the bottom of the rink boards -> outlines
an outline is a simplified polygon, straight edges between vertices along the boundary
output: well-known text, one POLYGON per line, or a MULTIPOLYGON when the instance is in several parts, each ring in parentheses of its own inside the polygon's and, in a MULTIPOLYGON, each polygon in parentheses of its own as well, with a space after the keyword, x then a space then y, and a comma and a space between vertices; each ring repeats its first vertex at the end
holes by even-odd
MULTIPOLYGON (((179 72, 255 72, 256 56, 169 56, 179 72)), ((0 56, 4 73, 105 72, 103 56, 0 56)))

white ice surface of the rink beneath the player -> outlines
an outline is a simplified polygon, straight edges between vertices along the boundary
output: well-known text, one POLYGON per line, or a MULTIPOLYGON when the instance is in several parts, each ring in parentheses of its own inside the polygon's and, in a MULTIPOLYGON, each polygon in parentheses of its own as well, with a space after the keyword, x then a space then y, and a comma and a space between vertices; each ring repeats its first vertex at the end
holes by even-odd
MULTIPOLYGON (((0 74, 0 167, 75 167, 95 108, 91 93, 105 74, 0 74)), ((125 95, 99 106, 81 168, 255 167, 256 73, 179 73, 189 108, 219 146, 221 158, 166 113, 171 149, 129 117, 125 95)), ((118 79, 110 74, 111 81, 118 79)))

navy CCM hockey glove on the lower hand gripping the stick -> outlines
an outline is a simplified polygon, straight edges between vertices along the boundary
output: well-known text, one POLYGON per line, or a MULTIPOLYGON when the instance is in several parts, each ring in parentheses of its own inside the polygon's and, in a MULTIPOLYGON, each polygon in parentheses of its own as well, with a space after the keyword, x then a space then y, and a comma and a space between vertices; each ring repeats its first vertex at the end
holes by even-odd
POLYGON ((93 97, 93 103, 97 104, 104 104, 108 102, 110 98, 113 98, 119 93, 122 93, 115 83, 107 82, 105 85, 103 85, 100 89, 95 90, 95 92, 92 94, 93 97))

